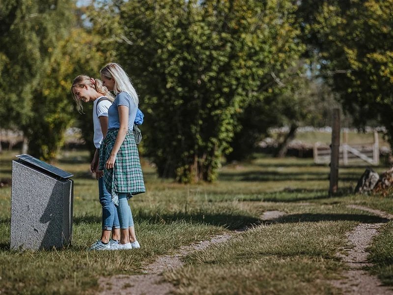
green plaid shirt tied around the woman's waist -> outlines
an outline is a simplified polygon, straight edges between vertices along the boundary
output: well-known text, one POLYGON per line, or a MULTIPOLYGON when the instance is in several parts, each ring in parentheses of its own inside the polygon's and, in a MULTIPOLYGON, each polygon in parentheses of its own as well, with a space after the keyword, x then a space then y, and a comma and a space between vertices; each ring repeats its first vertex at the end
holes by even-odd
POLYGON ((127 135, 116 155, 114 167, 104 169, 119 129, 108 130, 105 140, 100 148, 100 170, 104 170, 104 183, 108 192, 112 195, 112 202, 118 206, 118 193, 127 193, 127 197, 144 193, 142 169, 140 167, 139 152, 135 143, 134 133, 128 129, 127 135))

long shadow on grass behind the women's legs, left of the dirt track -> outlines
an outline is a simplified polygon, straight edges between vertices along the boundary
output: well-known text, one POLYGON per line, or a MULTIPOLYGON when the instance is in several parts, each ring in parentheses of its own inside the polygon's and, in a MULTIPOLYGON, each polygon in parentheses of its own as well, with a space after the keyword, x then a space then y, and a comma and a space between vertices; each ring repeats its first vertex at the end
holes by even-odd
MULTIPOLYGON (((253 216, 245 216, 241 214, 225 214, 225 213, 133 213, 137 222, 148 222, 151 224, 171 224, 173 222, 186 222, 191 224, 207 224, 214 226, 223 226, 228 230, 236 230, 248 225, 258 224, 260 220, 253 216)), ((83 217, 74 217, 74 225, 81 223, 101 223, 98 216, 86 215, 83 217)))

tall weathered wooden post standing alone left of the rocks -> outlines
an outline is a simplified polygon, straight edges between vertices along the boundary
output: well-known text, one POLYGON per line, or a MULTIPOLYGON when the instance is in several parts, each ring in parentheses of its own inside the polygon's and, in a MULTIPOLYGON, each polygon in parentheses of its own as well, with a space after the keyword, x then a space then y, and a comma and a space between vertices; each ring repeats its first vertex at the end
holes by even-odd
POLYGON ((330 161, 330 187, 329 196, 337 192, 338 188, 338 158, 340 150, 340 113, 338 109, 333 110, 332 122, 332 144, 330 161))

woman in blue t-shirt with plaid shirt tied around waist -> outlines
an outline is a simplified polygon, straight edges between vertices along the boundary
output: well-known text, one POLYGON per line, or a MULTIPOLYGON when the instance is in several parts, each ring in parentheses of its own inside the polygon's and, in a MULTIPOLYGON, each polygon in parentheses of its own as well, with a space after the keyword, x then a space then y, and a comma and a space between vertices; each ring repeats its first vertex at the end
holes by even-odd
POLYGON ((139 99, 130 78, 119 64, 107 64, 100 74, 103 85, 116 95, 108 110, 108 133, 101 145, 99 167, 104 171, 104 182, 112 195, 120 222, 120 241, 111 245, 111 249, 140 248, 127 202, 133 195, 146 191, 133 133, 139 99))

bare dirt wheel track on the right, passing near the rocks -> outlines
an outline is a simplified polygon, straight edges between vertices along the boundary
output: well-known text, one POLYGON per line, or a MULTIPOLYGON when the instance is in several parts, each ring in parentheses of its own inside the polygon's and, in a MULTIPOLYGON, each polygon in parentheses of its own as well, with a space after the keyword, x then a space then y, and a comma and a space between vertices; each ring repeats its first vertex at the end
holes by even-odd
MULTIPOLYGON (((392 219, 393 215, 384 211, 371 209, 368 207, 349 205, 347 207, 368 211, 380 217, 392 219)), ((381 282, 376 276, 371 276, 365 270, 368 253, 365 249, 371 244, 374 236, 378 234, 378 229, 383 223, 361 223, 352 232, 347 233, 348 240, 353 246, 347 249, 347 255, 339 254, 342 260, 349 266, 349 270, 344 273, 345 278, 333 281, 333 285, 343 290, 344 294, 356 295, 393 295, 389 287, 381 286, 381 282)))

